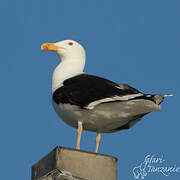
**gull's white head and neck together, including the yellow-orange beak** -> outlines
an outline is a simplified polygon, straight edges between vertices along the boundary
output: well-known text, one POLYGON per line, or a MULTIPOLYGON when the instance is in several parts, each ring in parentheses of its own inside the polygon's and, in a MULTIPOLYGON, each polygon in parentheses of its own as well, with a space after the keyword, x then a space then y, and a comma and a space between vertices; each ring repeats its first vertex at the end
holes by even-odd
POLYGON ((60 87, 65 79, 83 73, 85 65, 85 50, 76 41, 64 40, 56 43, 44 43, 41 49, 54 51, 61 59, 60 64, 55 68, 52 78, 52 92, 60 87))

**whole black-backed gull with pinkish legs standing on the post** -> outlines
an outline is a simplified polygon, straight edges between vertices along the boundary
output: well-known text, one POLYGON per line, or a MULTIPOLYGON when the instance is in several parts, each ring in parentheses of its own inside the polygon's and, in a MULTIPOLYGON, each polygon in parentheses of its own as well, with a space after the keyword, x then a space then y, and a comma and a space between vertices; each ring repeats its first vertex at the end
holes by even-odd
POLYGON ((97 132, 95 152, 101 133, 129 129, 144 115, 160 110, 170 94, 144 94, 127 84, 83 72, 85 50, 73 40, 44 43, 42 50, 55 51, 61 59, 52 77, 52 103, 56 113, 77 128, 76 148, 80 149, 83 129, 97 132))

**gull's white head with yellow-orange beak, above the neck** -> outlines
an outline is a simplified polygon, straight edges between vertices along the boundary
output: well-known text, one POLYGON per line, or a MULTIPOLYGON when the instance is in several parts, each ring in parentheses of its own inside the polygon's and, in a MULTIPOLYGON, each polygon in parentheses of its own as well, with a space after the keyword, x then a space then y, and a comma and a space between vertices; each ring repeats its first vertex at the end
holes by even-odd
POLYGON ((85 50, 76 41, 64 40, 56 43, 44 43, 41 45, 41 49, 45 51, 55 51, 62 61, 69 59, 84 59, 85 50))

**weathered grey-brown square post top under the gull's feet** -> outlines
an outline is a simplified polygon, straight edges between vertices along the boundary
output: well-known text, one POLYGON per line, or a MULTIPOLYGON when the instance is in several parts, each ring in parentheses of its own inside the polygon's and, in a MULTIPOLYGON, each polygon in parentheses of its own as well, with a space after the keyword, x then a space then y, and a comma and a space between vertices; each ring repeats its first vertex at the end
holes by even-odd
POLYGON ((32 180, 117 180, 117 159, 56 147, 32 167, 32 180))

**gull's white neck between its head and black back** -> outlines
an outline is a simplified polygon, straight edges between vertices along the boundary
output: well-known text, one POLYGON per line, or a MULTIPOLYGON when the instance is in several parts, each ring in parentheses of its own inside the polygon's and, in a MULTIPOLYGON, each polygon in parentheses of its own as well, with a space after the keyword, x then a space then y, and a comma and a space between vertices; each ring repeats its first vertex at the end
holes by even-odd
POLYGON ((63 81, 78 74, 82 74, 85 58, 62 60, 55 68, 52 77, 52 93, 63 86, 63 81))

